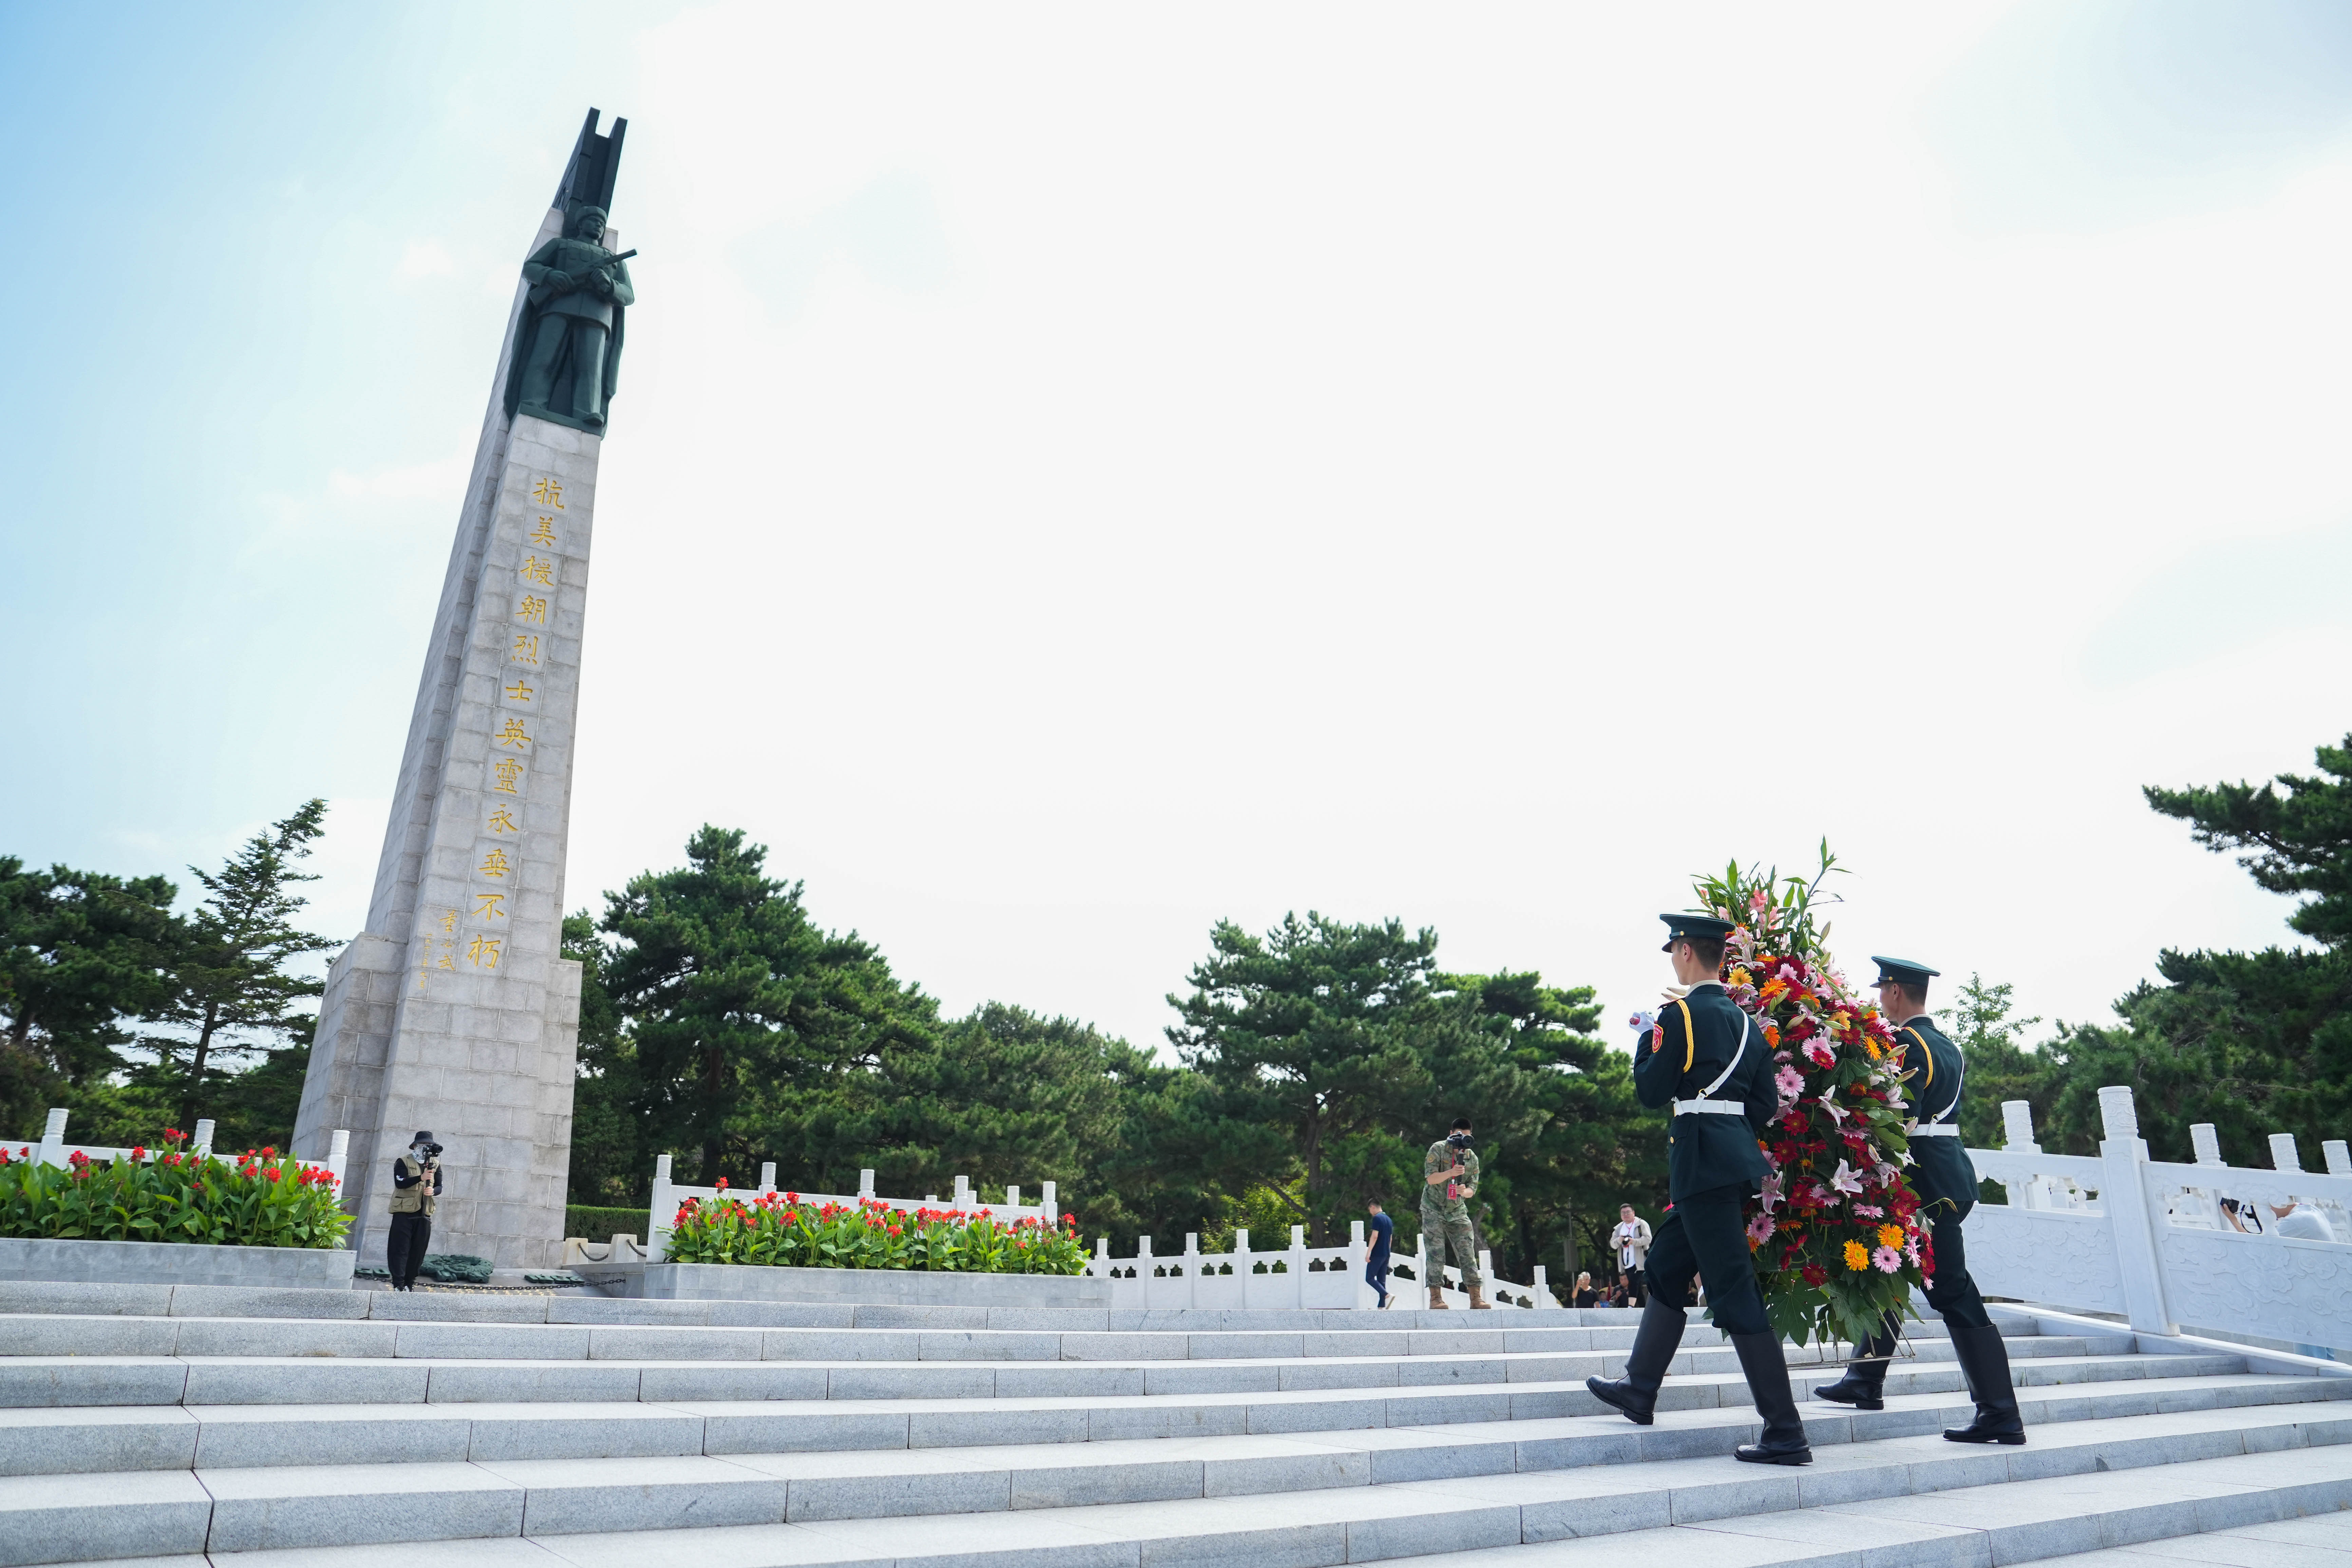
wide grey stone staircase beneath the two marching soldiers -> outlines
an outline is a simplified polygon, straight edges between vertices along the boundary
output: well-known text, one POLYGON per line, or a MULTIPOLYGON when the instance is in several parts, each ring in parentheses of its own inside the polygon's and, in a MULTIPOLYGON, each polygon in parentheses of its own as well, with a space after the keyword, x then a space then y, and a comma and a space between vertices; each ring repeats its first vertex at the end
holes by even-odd
MULTIPOLYGON (((1938 1436, 1969 1399, 1931 1321, 1886 1410, 1806 1401, 1816 1462, 1778 1469, 1729 1458, 1757 1420, 1703 1321, 1656 1427, 1585 1394, 1623 1368, 1625 1312, 9 1284, 0 1563, 1990 1568, 2239 1561, 2183 1537, 2352 1507, 2352 1378, 2086 1319, 2004 1331, 2027 1446, 1938 1436)), ((1799 1392, 1837 1375, 1790 1361, 1799 1392)))

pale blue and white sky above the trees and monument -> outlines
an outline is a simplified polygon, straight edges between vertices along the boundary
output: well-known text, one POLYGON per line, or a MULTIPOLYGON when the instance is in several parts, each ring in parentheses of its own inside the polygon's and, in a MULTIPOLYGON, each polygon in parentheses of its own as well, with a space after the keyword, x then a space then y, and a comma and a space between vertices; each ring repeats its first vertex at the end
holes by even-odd
POLYGON ((1138 1044, 1310 907, 1623 1039, 1691 872, 1823 835, 1856 978, 2105 1018, 2286 936, 2138 788, 2352 729, 2319 0, 0 2, 0 853, 327 795, 358 931, 590 103, 574 907, 739 825, 950 1011, 1138 1044))

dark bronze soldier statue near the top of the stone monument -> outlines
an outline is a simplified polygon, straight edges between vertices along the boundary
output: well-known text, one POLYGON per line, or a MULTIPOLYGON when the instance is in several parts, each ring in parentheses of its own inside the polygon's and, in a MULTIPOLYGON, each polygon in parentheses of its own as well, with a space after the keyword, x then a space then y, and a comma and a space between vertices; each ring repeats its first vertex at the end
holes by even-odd
POLYGON ((604 407, 621 371, 621 339, 637 292, 628 259, 604 249, 604 209, 579 207, 562 237, 522 263, 532 292, 515 331, 506 411, 536 414, 574 430, 604 433, 604 407))

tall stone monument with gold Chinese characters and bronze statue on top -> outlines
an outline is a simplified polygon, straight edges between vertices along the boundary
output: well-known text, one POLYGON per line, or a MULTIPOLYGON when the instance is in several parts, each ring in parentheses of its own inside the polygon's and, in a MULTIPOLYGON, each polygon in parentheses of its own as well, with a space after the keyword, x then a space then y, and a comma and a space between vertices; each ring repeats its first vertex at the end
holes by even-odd
POLYGON ((327 973, 294 1150, 350 1128, 383 1260, 390 1161, 445 1147, 435 1253, 562 1260, 581 966, 560 952, 597 454, 633 294, 604 226, 626 120, 588 110, 532 240, 433 616, 383 860, 327 973))

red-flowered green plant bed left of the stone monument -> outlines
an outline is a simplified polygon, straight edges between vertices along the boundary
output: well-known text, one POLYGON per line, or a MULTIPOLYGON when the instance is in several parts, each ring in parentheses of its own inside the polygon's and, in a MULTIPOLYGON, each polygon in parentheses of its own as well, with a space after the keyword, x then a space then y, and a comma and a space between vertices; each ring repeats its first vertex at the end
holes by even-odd
POLYGON ((0 1150, 0 1237, 343 1246, 350 1215, 325 1166, 278 1150, 195 1157, 179 1150, 179 1131, 165 1143, 153 1159, 143 1147, 111 1161, 75 1150, 66 1166, 40 1164, 31 1147, 0 1150))

